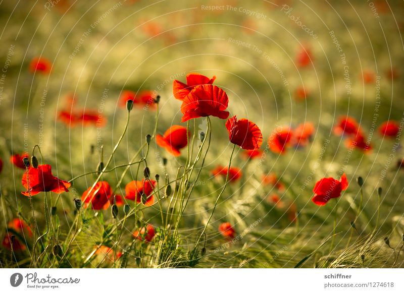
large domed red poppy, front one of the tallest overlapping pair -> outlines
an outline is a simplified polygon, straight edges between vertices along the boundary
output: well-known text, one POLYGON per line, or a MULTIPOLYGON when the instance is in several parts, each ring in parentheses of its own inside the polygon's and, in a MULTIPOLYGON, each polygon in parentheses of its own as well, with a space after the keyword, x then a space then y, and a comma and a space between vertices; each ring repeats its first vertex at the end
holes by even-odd
POLYGON ((198 85, 182 101, 181 121, 210 115, 227 119, 229 112, 225 110, 228 103, 229 98, 221 88, 211 84, 198 85))

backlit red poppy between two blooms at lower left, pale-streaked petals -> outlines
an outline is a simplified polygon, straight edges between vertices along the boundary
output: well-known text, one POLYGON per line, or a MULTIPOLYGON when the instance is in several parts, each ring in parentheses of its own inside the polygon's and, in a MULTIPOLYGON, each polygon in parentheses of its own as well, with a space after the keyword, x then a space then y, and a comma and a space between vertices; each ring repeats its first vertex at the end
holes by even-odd
POLYGON ((110 199, 112 196, 111 186, 106 181, 99 181, 95 187, 91 186, 83 193, 81 201, 87 207, 91 203, 93 210, 105 210, 110 206, 110 199), (91 191, 91 193, 90 193, 91 191))

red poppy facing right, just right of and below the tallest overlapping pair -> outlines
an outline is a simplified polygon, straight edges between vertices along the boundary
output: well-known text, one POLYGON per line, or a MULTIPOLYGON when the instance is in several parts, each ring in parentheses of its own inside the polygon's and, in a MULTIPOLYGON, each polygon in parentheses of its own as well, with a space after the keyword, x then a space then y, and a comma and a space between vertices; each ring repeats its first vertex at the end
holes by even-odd
POLYGON ((242 149, 254 150, 261 147, 262 133, 255 123, 247 119, 237 121, 237 117, 233 116, 226 121, 226 128, 229 132, 230 142, 242 149))

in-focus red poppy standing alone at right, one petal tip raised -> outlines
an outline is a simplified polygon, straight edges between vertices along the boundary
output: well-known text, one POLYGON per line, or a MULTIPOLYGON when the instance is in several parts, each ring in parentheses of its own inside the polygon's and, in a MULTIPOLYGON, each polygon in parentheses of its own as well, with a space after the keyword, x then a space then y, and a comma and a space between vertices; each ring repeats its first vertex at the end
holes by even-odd
POLYGON ((330 199, 341 196, 341 192, 348 188, 348 181, 345 173, 342 174, 341 180, 338 181, 332 177, 319 180, 314 189, 314 197, 312 201, 319 206, 325 205, 330 199))

